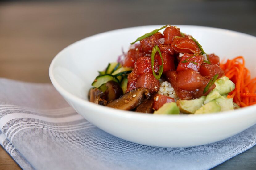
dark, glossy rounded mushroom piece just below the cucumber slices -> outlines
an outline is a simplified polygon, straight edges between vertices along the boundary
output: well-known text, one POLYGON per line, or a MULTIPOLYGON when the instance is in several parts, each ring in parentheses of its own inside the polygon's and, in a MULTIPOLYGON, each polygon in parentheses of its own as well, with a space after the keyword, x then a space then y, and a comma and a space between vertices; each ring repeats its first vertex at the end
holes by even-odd
POLYGON ((120 85, 115 81, 108 81, 105 86, 107 87, 105 91, 105 95, 107 98, 107 101, 110 102, 114 99, 119 98, 121 95, 123 95, 122 88, 120 85))

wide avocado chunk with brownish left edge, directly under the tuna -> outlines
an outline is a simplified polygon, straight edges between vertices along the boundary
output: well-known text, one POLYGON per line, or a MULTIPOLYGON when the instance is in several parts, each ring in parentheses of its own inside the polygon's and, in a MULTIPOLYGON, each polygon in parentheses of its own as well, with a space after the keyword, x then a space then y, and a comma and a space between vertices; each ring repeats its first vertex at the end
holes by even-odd
POLYGON ((193 100, 181 100, 177 101, 177 105, 180 108, 180 111, 183 113, 194 114, 196 110, 203 106, 205 96, 202 96, 198 99, 193 100))

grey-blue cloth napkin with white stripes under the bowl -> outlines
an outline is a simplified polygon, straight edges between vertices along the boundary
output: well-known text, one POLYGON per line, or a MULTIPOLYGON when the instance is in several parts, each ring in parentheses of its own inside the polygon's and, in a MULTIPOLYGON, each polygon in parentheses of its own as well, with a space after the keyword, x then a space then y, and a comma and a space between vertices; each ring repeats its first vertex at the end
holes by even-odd
POLYGON ((0 79, 0 143, 23 169, 209 169, 256 144, 256 125, 226 140, 158 148, 114 137, 50 84, 0 79))

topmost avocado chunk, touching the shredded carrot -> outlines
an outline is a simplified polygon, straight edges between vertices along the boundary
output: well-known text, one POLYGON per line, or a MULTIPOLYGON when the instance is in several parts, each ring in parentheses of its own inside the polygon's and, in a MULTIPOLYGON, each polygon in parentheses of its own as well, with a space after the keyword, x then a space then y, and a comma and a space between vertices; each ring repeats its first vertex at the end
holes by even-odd
POLYGON ((215 89, 217 89, 221 95, 235 89, 235 84, 226 76, 217 79, 214 84, 216 85, 215 89))

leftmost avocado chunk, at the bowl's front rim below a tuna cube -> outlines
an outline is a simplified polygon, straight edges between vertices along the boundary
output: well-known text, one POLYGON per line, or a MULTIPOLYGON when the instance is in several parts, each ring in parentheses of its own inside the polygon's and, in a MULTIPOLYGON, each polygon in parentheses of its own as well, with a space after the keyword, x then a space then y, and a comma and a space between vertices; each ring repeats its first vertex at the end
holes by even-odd
POLYGON ((154 114, 180 114, 180 109, 175 102, 165 103, 154 114))

